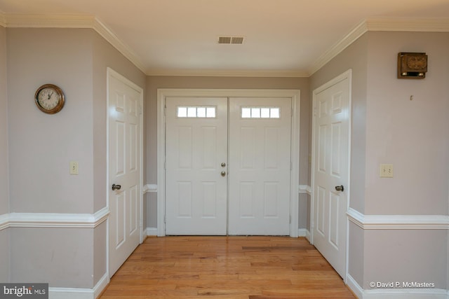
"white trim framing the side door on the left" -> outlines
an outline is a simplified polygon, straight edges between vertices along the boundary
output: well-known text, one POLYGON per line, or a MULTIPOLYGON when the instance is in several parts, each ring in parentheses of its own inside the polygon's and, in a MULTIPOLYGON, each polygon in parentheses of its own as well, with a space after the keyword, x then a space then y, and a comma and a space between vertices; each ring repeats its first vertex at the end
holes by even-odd
MULTIPOLYGON (((143 229, 143 89, 140 88, 139 85, 136 85, 133 83, 133 81, 130 81, 125 76, 122 76, 118 72, 114 71, 114 69, 111 69, 107 67, 107 75, 106 75, 106 207, 109 211, 109 78, 115 77, 119 79, 119 81, 125 83, 126 85, 134 88, 135 90, 138 90, 140 92, 140 99, 139 99, 139 105, 140 105, 140 148, 139 148, 139 155, 140 155, 140 190, 142 192, 139 193, 138 197, 138 204, 140 205, 140 214, 139 214, 139 231, 140 231, 140 243, 143 242, 144 237, 146 237, 145 231, 143 229)), ((107 232, 106 232, 106 269, 107 269, 107 277, 109 282, 109 216, 107 219, 107 232)))

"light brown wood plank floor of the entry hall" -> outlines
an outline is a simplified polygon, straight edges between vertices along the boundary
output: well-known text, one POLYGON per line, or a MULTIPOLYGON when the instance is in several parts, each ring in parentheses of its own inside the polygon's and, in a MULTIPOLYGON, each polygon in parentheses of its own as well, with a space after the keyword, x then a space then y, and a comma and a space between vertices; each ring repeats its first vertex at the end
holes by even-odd
POLYGON ((101 299, 355 298, 305 238, 148 237, 101 299))

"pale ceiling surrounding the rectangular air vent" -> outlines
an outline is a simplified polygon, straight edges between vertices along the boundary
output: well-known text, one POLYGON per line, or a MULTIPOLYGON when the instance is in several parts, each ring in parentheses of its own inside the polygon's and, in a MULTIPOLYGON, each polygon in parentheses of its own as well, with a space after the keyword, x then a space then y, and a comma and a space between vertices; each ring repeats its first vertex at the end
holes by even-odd
POLYGON ((0 0, 0 11, 93 16, 149 75, 309 76, 367 20, 449 27, 449 0, 0 0))

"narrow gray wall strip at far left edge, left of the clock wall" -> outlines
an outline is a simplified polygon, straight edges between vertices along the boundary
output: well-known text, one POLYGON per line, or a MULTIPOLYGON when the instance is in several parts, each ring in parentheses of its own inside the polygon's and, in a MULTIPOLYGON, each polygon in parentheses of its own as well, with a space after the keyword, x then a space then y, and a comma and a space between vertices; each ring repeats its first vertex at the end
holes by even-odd
MULTIPOLYGON (((0 26, 0 216, 9 212, 6 29, 0 26)), ((9 230, 0 230, 0 281, 9 281, 9 230)))

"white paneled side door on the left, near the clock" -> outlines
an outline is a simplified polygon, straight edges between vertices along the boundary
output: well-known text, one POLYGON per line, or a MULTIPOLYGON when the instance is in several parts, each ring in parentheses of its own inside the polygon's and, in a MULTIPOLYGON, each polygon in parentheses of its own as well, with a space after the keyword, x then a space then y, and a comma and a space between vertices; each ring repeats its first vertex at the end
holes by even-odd
POLYGON ((111 70, 108 82, 109 277, 112 277, 140 244, 142 90, 111 70))

